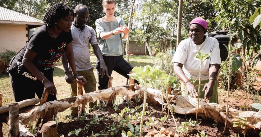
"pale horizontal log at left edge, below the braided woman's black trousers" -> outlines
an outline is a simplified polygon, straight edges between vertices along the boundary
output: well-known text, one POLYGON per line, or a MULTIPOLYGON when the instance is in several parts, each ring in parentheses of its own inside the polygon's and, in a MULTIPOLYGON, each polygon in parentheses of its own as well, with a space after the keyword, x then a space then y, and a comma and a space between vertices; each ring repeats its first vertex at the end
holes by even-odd
MULTIPOLYGON (((26 107, 26 106, 37 104, 39 102, 40 102, 39 98, 26 99, 26 100, 18 102, 18 107, 20 109, 20 108, 23 108, 23 107, 26 107)), ((8 112, 8 105, 0 107, 0 114, 2 114, 4 112, 8 112)))

